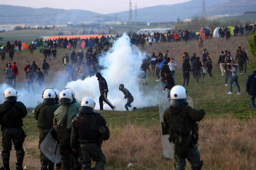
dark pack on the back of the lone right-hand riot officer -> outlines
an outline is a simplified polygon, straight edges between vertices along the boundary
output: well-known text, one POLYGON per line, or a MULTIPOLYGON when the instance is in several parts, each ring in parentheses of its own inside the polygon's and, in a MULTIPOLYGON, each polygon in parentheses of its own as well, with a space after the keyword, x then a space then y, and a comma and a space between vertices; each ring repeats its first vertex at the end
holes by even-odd
POLYGON ((179 115, 170 115, 170 141, 175 145, 175 154, 181 158, 188 156, 188 151, 192 141, 192 130, 186 132, 185 119, 189 106, 184 106, 179 115))

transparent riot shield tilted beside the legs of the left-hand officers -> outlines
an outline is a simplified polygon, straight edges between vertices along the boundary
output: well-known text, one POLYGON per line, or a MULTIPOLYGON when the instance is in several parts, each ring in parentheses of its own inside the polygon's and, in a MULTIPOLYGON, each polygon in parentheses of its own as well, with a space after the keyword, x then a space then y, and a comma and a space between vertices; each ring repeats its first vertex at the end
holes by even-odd
POLYGON ((44 138, 43 142, 40 144, 40 150, 53 163, 57 164, 61 161, 60 156, 60 145, 56 142, 56 137, 52 135, 54 129, 44 138), (57 145, 56 145, 57 144, 57 145))

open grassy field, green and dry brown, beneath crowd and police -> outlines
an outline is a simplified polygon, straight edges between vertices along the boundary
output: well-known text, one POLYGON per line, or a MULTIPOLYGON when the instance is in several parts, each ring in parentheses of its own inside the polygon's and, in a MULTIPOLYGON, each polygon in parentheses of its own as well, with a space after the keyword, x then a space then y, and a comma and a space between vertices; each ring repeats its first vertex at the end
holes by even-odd
MULTIPOLYGON (((214 63, 213 76, 209 79, 201 78, 199 84, 190 77, 188 95, 194 100, 195 108, 204 108, 206 110, 205 118, 199 122, 199 150, 204 160, 203 169, 255 169, 256 156, 256 121, 255 112, 250 107, 248 94, 245 92, 245 83, 247 76, 252 73, 251 69, 239 76, 241 95, 227 95, 229 87, 225 87, 225 77, 221 76, 220 67, 217 65, 221 50, 231 51, 235 56, 239 42, 245 51, 248 51, 246 43, 247 37, 232 37, 230 41, 221 42, 220 39, 205 40, 204 47, 210 53, 214 63)), ((158 53, 169 50, 169 56, 172 56, 178 64, 175 83, 182 85, 182 72, 180 70, 181 56, 184 51, 189 55, 195 52, 202 56, 202 48, 196 46, 196 41, 189 41, 189 46, 184 42, 153 44, 153 48, 146 46, 146 51, 158 53)), ((58 52, 58 60, 50 62, 52 69, 50 75, 55 74, 62 69, 61 58, 64 53, 70 54, 71 51, 58 52)), ((251 60, 250 54, 248 54, 251 60)), ((23 67, 26 61, 36 60, 41 66, 43 55, 35 52, 30 55, 28 51, 22 51, 15 55, 15 61, 21 70, 18 82, 24 81, 23 67)), ((0 70, 3 70, 4 64, 0 70)), ((153 88, 160 82, 155 82, 156 76, 148 75, 148 86, 141 86, 141 90, 146 91, 153 88)), ((4 78, 0 79, 1 82, 4 78)), ((51 81, 47 79, 46 81, 51 81)), ((233 92, 237 92, 234 85, 233 92)), ((159 94, 165 98, 166 92, 159 89, 159 94)), ((136 99, 135 99, 136 101, 136 99)), ((134 103, 135 105, 135 103, 134 103)), ((36 120, 32 113, 33 108, 28 109, 28 116, 24 118, 23 129, 27 133, 25 139, 25 159, 24 166, 28 169, 40 169, 39 149, 38 149, 38 129, 36 120)), ((103 143, 102 149, 107 157, 106 169, 174 169, 173 161, 165 159, 162 150, 161 132, 158 107, 139 108, 134 112, 104 111, 103 116, 107 120, 110 128, 110 139, 103 143), (132 167, 127 167, 132 163, 132 167)), ((12 168, 15 165, 15 151, 11 152, 12 168)), ((0 160, 2 165, 2 160, 0 160)), ((187 164, 187 169, 190 165, 187 164)))

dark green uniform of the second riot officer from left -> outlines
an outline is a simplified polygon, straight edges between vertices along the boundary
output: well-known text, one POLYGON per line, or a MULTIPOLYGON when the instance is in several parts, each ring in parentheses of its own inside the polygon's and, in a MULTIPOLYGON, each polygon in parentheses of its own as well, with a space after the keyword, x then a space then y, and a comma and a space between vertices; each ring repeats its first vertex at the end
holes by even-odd
MULTIPOLYGON (((35 108, 35 119, 37 120, 37 127, 39 128, 39 149, 40 144, 43 142, 44 138, 53 127, 54 111, 58 107, 58 104, 47 105, 45 103, 41 103, 35 108)), ((53 170, 54 163, 48 160, 42 152, 40 152, 40 161, 42 163, 42 166, 48 165, 48 169, 53 170)))

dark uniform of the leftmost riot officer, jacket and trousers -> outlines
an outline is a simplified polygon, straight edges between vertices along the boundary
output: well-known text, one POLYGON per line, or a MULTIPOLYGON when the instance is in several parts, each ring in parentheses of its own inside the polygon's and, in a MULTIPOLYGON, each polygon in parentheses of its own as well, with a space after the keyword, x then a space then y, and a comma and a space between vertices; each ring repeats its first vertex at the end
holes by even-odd
POLYGON ((27 109, 21 102, 4 102, 0 105, 0 123, 2 130, 2 158, 5 170, 10 170, 9 160, 10 151, 12 150, 12 142, 16 151, 17 163, 16 169, 23 169, 23 158, 25 152, 23 150, 23 142, 26 137, 23 129, 22 118, 27 115, 27 109))

